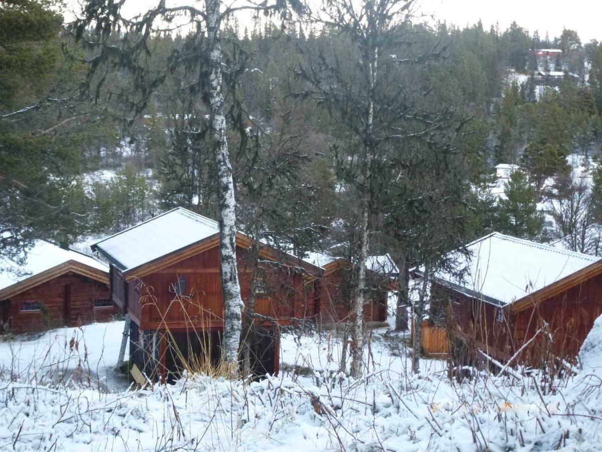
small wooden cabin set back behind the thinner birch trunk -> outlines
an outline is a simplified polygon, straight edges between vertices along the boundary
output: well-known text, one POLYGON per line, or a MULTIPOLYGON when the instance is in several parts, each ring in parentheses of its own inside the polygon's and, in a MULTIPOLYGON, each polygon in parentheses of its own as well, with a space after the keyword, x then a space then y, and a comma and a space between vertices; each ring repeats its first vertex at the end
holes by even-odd
MULTIPOLYGON (((310 253, 308 262, 322 269, 316 290, 314 315, 322 325, 351 321, 353 316, 350 281, 353 265, 347 259, 310 253)), ((371 287, 364 304, 367 324, 385 322, 389 290, 396 289, 397 266, 388 254, 370 256, 367 262, 367 278, 371 287)))

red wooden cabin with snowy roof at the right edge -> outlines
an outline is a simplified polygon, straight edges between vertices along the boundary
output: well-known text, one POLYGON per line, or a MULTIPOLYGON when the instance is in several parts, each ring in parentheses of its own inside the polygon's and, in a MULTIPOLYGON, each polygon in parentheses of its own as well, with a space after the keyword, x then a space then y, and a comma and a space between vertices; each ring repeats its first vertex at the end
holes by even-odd
POLYGON ((463 275, 436 275, 433 306, 447 312, 450 353, 482 361, 574 361, 602 313, 602 259, 489 234, 450 259, 463 275))

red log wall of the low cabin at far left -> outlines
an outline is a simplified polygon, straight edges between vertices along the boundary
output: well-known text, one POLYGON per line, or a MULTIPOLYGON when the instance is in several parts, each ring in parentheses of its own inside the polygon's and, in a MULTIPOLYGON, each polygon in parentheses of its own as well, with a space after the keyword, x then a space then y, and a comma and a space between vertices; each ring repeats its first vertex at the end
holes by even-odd
POLYGON ((106 284, 68 273, 0 301, 4 304, 0 312, 5 325, 0 330, 19 334, 106 322, 119 313, 109 301, 106 284), (28 310, 34 307, 32 303, 40 303, 40 309, 28 310))

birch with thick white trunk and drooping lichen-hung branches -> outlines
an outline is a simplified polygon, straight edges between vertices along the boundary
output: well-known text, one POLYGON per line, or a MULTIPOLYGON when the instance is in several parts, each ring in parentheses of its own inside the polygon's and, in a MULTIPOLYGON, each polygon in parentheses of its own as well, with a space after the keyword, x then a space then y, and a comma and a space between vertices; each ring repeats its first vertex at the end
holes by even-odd
MULTIPOLYGON (((221 0, 205 0, 170 6, 166 0, 161 0, 156 7, 133 18, 123 13, 124 4, 125 1, 90 0, 75 24, 76 39, 96 55, 89 61, 88 89, 98 98, 104 71, 117 69, 126 72, 131 77, 131 92, 120 93, 120 98, 129 107, 130 118, 135 118, 144 111, 154 89, 161 86, 170 74, 181 71, 188 75, 185 78, 187 83, 181 83, 185 85, 182 89, 187 90, 191 105, 202 102, 208 109, 218 179, 220 272, 225 306, 222 359, 232 374, 237 374, 244 304, 238 282, 236 200, 226 133, 224 86, 231 87, 231 92, 234 92, 235 80, 244 67, 236 60, 236 46, 234 55, 225 58, 220 33, 223 21, 237 11, 278 12, 287 18, 290 16, 289 4, 282 1, 262 5, 243 2, 226 6, 221 0), (149 46, 152 37, 176 32, 185 33, 183 46, 173 49, 161 67, 149 68, 144 64, 152 56, 149 46)), ((301 7, 296 0, 290 4, 297 10, 301 7)), ((154 64, 157 64, 156 60, 154 64)), ((243 122, 240 115, 231 116, 232 121, 239 125, 243 122)), ((244 130, 242 127, 239 129, 244 130)))

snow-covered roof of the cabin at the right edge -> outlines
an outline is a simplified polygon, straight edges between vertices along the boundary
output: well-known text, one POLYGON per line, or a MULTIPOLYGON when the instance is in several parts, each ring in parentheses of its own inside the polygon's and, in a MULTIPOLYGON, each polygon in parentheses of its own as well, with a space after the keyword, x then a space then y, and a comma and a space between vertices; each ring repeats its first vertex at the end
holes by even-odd
POLYGON ((439 280, 458 290, 483 295, 486 301, 505 306, 543 289, 601 260, 589 254, 492 233, 467 245, 470 256, 454 251, 462 279, 446 272, 439 280))

